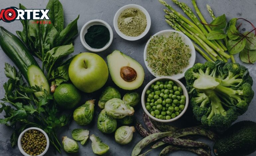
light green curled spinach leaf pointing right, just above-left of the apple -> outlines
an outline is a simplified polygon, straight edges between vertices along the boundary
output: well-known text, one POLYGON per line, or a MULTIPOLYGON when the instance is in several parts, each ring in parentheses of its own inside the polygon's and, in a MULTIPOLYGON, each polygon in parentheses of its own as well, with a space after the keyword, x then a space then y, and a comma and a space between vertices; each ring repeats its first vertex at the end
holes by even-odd
MULTIPOLYGON (((52 48, 46 52, 44 63, 47 70, 51 70, 57 60, 74 52, 72 44, 52 48)), ((51 71, 49 71, 51 73, 51 71)))

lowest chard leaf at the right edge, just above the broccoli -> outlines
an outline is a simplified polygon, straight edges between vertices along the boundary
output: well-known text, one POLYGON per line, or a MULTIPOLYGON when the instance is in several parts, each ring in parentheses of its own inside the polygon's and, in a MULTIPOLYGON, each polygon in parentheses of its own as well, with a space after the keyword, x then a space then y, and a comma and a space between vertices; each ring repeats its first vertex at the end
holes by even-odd
POLYGON ((243 61, 245 63, 253 64, 256 62, 256 50, 248 50, 248 49, 244 48, 239 53, 239 57, 240 57, 241 61, 243 61))

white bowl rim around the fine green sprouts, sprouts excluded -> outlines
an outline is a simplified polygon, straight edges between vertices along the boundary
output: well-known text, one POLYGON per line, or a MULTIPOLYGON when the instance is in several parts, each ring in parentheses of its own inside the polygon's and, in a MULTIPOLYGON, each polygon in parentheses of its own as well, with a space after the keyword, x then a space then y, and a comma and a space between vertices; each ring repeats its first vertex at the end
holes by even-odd
MULTIPOLYGON (((175 78, 175 79, 181 79, 181 78, 184 77, 185 72, 186 72, 189 68, 193 67, 193 65, 194 65, 194 63, 195 63, 195 48, 194 48, 194 45, 193 45, 192 41, 191 41, 185 34, 183 34, 183 33, 181 33, 181 32, 178 32, 178 31, 176 31, 176 30, 163 30, 163 31, 160 31, 160 32, 156 33, 156 34, 153 35, 153 36, 168 35, 168 34, 171 34, 171 33, 174 33, 174 32, 175 32, 175 33, 178 33, 178 34, 182 37, 184 43, 187 44, 187 45, 189 45, 189 47, 190 47, 190 49, 191 49, 191 57, 190 57, 190 60, 189 60, 189 65, 188 65, 186 68, 183 69, 183 72, 180 73, 180 74, 168 75, 168 76, 170 76, 170 77, 172 77, 172 78, 175 78)), ((148 45, 149 45, 150 40, 151 40, 151 38, 148 40, 148 42, 147 42, 147 44, 146 44, 146 46, 145 46, 145 49, 144 49, 144 62, 145 62, 145 64, 146 64, 146 67, 148 68, 149 72, 150 72, 152 75, 154 75, 155 77, 160 77, 160 76, 163 76, 163 75, 157 75, 156 73, 154 73, 154 72, 152 71, 152 69, 148 66, 148 62, 146 61, 146 59, 147 59, 147 48, 148 48, 148 45)))

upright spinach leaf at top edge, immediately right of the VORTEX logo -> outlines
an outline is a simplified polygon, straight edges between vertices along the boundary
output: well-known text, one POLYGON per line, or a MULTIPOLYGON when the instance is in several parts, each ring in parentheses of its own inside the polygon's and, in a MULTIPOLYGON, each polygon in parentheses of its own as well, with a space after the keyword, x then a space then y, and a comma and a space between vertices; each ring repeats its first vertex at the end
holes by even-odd
POLYGON ((63 7, 59 0, 49 0, 46 9, 50 9, 48 16, 58 32, 64 29, 63 7))

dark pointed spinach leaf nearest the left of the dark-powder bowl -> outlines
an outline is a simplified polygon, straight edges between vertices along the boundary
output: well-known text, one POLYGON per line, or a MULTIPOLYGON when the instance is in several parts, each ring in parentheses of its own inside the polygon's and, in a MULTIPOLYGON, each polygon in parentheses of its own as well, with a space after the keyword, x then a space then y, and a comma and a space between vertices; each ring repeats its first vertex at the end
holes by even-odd
POLYGON ((66 28, 60 33, 62 45, 70 44, 72 42, 72 38, 78 33, 78 30, 77 30, 78 19, 79 19, 79 15, 74 21, 69 23, 66 26, 66 28))

